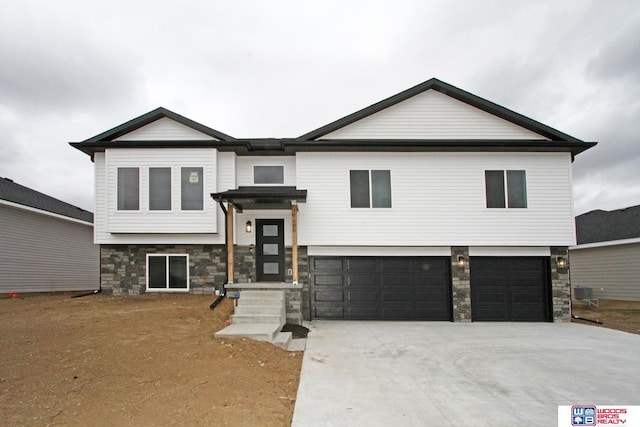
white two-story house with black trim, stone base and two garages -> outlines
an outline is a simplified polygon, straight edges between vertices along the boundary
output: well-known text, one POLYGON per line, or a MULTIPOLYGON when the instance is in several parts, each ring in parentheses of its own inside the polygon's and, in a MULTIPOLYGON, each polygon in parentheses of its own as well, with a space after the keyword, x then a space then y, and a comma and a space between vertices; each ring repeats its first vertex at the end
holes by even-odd
POLYGON ((286 289, 298 321, 570 319, 571 163, 595 143, 437 79, 297 138, 159 108, 71 145, 95 163, 113 293, 286 289))

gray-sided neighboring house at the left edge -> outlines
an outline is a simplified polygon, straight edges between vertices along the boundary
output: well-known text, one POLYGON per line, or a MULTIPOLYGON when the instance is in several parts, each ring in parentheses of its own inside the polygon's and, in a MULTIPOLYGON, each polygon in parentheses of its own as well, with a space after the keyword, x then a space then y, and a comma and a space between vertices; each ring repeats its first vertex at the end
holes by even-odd
POLYGON ((93 214, 0 178, 0 293, 95 290, 93 214))

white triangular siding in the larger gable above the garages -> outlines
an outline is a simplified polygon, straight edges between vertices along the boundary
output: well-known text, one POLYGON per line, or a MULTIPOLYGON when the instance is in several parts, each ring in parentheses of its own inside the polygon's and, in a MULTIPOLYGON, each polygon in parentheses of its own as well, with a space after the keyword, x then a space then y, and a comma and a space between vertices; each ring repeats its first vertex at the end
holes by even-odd
POLYGON ((438 91, 427 90, 321 139, 548 138, 438 91))

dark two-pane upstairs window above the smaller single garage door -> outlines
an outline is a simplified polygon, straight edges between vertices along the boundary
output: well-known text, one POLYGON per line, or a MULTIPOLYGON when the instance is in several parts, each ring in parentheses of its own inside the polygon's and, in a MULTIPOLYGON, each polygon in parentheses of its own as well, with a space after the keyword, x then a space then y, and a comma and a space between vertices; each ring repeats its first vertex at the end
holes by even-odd
POLYGON ((527 207, 527 176, 525 171, 486 170, 484 171, 484 181, 488 208, 527 207))

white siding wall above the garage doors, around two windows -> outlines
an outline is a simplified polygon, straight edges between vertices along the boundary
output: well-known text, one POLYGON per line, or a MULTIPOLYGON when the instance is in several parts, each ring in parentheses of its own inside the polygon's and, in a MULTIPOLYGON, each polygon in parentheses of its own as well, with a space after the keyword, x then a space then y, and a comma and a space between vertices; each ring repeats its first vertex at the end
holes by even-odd
POLYGON ((570 246, 568 153, 298 153, 300 245, 570 246), (349 171, 390 170, 393 206, 352 209, 349 171), (485 170, 525 170, 527 209, 488 209, 485 170))

